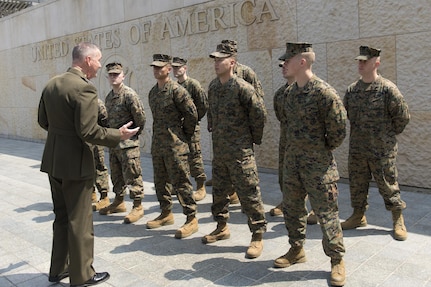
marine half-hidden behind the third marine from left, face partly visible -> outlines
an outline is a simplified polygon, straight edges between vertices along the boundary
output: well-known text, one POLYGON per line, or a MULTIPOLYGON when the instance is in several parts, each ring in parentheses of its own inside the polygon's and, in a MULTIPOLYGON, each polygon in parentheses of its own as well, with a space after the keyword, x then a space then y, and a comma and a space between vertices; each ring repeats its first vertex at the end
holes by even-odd
POLYGON ((205 174, 204 161, 202 158, 201 128, 199 123, 207 113, 208 98, 204 89, 202 89, 201 84, 187 75, 186 59, 174 57, 172 59, 172 67, 174 76, 178 79, 178 84, 183 86, 189 92, 198 111, 198 123, 196 124, 195 132, 193 133, 192 139, 189 143, 189 165, 190 174, 196 181, 196 192, 193 196, 196 201, 200 201, 206 196, 205 181, 207 176, 205 174))

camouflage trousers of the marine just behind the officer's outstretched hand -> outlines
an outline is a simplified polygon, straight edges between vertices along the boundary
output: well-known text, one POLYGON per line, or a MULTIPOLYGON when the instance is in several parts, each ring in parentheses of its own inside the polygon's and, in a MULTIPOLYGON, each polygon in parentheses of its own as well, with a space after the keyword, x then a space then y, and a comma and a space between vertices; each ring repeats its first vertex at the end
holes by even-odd
POLYGON ((129 189, 131 199, 144 198, 139 147, 109 149, 109 166, 116 196, 124 196, 129 189))

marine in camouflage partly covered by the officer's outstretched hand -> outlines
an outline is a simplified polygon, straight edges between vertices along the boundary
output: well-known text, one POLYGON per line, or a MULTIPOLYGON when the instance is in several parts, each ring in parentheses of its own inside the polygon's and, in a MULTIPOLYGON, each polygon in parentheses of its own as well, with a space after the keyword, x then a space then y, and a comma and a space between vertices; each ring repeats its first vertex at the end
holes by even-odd
POLYGON ((129 140, 121 141, 115 148, 109 149, 109 164, 115 200, 109 206, 99 210, 99 213, 106 215, 126 211, 124 196, 128 189, 130 198, 133 199, 133 208, 124 217, 124 222, 133 223, 144 216, 142 207, 144 182, 142 180, 139 134, 144 130, 146 116, 144 106, 137 93, 123 83, 125 75, 121 63, 109 63, 106 65, 106 70, 113 87, 105 99, 109 127, 119 128, 132 121, 133 127, 139 127, 139 132, 129 140))

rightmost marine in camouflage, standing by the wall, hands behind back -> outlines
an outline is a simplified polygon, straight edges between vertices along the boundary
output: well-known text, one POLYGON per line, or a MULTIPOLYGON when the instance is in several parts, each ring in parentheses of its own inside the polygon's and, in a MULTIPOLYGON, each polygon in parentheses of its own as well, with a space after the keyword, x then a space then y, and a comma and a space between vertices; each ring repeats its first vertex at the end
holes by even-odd
POLYGON ((407 239, 401 210, 396 158, 400 134, 410 120, 409 109, 398 88, 378 75, 380 50, 360 47, 358 60, 361 79, 351 84, 344 97, 350 120, 349 179, 353 215, 341 225, 352 229, 367 225, 368 189, 372 179, 377 183, 385 207, 392 212, 394 237, 407 239))

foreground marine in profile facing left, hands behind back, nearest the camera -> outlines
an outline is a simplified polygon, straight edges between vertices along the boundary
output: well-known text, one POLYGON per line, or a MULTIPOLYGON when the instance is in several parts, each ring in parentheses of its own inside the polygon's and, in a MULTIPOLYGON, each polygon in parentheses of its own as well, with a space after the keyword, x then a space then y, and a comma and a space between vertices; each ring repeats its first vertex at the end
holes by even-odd
POLYGON ((291 248, 275 260, 274 266, 283 268, 306 261, 303 245, 308 195, 323 233, 323 250, 331 258, 330 283, 343 286, 345 248, 336 185, 339 174, 332 151, 346 136, 346 110, 335 89, 313 74, 315 54, 311 44, 287 43, 286 53, 279 59, 285 61, 295 83, 285 92, 282 115, 287 137, 283 211, 291 248))

